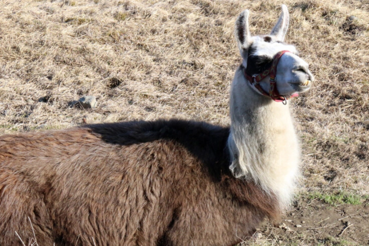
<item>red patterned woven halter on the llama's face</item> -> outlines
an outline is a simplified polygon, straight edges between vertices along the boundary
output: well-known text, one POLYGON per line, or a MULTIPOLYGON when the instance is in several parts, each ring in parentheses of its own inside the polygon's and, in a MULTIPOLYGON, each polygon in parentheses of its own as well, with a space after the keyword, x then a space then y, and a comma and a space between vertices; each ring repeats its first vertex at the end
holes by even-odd
POLYGON ((282 96, 279 94, 277 90, 277 84, 276 84, 276 72, 277 72, 277 65, 279 62, 279 59, 282 57, 282 55, 286 52, 290 51, 280 51, 273 57, 273 63, 272 66, 266 69, 264 72, 259 73, 258 75, 250 76, 246 73, 246 69, 244 67, 244 75, 246 79, 249 81, 251 86, 254 86, 261 94, 264 96, 272 98, 276 102, 283 102, 283 104, 287 103, 287 99, 290 99, 292 97, 297 97, 299 94, 294 93, 288 98, 285 96, 282 96), (263 90, 263 88, 260 86, 259 82, 265 79, 266 76, 270 75, 269 80, 269 93, 263 90))

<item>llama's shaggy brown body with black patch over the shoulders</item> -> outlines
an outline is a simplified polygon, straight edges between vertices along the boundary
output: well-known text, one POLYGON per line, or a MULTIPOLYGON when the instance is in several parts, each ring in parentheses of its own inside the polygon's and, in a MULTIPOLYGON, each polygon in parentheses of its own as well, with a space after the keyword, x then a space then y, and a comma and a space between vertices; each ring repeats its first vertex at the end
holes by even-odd
POLYGON ((276 203, 230 173, 229 128, 87 125, 0 136, 0 245, 232 245, 276 203), (94 241, 94 242, 93 242, 94 241))

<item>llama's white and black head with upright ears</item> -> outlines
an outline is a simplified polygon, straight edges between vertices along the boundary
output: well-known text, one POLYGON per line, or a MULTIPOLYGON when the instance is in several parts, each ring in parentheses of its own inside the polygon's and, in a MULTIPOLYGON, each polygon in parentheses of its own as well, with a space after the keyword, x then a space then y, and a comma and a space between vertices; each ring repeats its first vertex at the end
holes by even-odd
POLYGON ((314 81, 314 76, 308 64, 298 56, 296 48, 283 42, 289 24, 286 5, 282 5, 282 13, 269 35, 251 36, 248 17, 249 11, 242 11, 235 26, 235 36, 243 58, 246 79, 252 85, 257 83, 258 92, 270 95, 273 100, 278 97, 286 99, 297 95, 296 93, 307 91, 314 81), (268 73, 268 70, 274 70, 274 75, 268 73), (256 81, 255 78, 259 80, 256 81))

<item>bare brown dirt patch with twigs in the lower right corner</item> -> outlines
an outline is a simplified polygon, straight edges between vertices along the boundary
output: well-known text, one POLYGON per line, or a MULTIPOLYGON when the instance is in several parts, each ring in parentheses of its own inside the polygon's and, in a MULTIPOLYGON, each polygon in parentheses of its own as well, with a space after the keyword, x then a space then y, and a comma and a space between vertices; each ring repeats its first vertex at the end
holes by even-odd
POLYGON ((369 245, 369 206, 304 199, 241 245, 369 245))

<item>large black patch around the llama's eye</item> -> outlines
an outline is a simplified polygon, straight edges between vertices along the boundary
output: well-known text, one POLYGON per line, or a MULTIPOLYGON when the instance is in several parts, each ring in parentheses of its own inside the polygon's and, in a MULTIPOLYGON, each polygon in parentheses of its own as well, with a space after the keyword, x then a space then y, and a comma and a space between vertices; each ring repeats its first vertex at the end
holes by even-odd
POLYGON ((273 58, 269 56, 256 56, 253 55, 255 47, 251 45, 248 52, 246 73, 248 75, 254 75, 264 72, 266 69, 272 66, 273 58))

